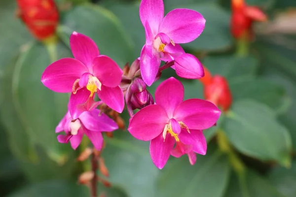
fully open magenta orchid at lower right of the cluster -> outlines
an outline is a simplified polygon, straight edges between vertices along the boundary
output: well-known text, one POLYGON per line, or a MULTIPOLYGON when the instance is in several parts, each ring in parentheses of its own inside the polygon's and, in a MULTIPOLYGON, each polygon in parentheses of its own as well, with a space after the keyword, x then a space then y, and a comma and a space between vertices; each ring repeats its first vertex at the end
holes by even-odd
POLYGON ((128 131, 135 138, 151 140, 151 159, 159 169, 170 155, 188 154, 191 164, 196 160, 192 151, 205 155, 207 143, 202 130, 212 127, 220 117, 221 111, 212 102, 183 99, 182 83, 171 77, 157 87, 156 104, 144 107, 130 121, 128 131))

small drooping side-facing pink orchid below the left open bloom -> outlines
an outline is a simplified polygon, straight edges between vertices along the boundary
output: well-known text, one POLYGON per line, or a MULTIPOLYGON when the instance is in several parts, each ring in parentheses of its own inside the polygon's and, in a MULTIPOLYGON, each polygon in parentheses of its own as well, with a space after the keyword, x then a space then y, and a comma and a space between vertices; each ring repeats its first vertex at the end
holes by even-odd
POLYGON ((102 131, 117 130, 117 124, 106 114, 100 114, 99 109, 85 111, 80 114, 78 119, 73 119, 68 111, 59 125, 56 127, 56 133, 65 131, 66 135, 58 135, 60 143, 70 141, 72 148, 75 150, 83 137, 83 134, 90 139, 97 150, 103 146, 102 131))

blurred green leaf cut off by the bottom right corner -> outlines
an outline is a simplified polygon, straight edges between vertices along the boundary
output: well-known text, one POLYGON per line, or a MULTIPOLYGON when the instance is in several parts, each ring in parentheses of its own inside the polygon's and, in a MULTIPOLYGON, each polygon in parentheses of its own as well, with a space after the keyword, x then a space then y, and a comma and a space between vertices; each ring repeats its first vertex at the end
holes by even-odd
POLYGON ((296 161, 292 162, 290 169, 277 166, 268 175, 271 184, 285 197, 296 196, 296 161))

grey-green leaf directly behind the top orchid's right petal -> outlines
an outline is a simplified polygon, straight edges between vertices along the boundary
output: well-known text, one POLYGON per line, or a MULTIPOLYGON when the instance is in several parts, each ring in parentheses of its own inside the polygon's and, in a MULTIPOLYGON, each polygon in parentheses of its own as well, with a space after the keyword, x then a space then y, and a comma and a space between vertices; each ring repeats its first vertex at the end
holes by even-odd
MULTIPOLYGON (((192 42, 184 44, 195 51, 218 51, 226 50, 232 45, 232 38, 229 33, 230 13, 214 3, 194 3, 191 5, 182 4, 174 8, 188 8, 200 12, 206 19, 205 30, 192 42)), ((171 10, 170 9, 170 10, 171 10)))

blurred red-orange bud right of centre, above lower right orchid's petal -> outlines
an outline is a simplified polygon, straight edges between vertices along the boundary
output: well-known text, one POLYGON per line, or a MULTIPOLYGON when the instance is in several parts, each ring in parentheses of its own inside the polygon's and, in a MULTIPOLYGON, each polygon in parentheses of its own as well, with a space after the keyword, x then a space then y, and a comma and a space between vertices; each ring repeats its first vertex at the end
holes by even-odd
POLYGON ((221 106, 223 111, 227 111, 232 103, 232 95, 227 80, 215 75, 211 84, 204 86, 205 99, 221 106))

